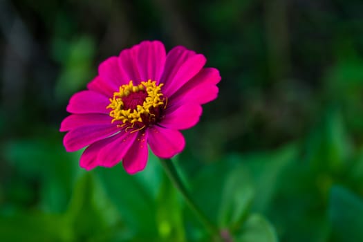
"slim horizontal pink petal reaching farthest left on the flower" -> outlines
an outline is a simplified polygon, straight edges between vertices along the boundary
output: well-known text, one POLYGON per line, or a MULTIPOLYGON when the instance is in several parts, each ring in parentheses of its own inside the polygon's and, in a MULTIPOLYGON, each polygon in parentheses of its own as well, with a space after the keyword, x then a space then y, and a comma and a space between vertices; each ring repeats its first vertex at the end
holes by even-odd
POLYGON ((64 132, 71 129, 77 129, 81 126, 90 126, 97 124, 111 124, 112 118, 106 114, 88 113, 88 114, 72 114, 66 117, 59 131, 64 132))

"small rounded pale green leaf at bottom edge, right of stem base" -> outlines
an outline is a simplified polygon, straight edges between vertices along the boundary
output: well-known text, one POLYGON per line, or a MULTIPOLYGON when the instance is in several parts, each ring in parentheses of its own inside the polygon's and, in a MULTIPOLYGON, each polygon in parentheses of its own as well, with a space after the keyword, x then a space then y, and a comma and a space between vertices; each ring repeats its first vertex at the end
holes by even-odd
POLYGON ((259 214, 252 214, 243 223, 239 234, 236 235, 237 242, 277 242, 274 227, 259 214))

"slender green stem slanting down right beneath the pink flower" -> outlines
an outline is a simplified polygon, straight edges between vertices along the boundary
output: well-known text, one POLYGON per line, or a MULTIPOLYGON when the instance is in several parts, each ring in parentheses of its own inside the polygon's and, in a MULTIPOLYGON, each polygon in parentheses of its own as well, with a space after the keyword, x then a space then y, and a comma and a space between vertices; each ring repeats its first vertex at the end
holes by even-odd
POLYGON ((189 205, 189 207, 196 213, 196 215, 201 219, 204 223, 205 227, 210 230, 210 232, 216 236, 220 236, 218 228, 210 221, 207 216, 202 212, 202 210, 194 203, 192 197, 189 195, 185 185, 183 184, 180 176, 178 175, 178 171, 176 171, 174 167, 174 163, 171 159, 162 159, 160 158, 161 165, 164 167, 165 172, 169 176, 170 180, 174 183, 175 187, 179 190, 179 192, 183 195, 185 201, 189 205))

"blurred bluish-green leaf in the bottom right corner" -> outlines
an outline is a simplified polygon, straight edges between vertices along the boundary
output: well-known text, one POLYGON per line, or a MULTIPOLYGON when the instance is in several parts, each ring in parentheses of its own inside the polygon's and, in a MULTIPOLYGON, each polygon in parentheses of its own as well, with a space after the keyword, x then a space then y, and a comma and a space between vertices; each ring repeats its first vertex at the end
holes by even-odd
POLYGON ((331 189, 329 218, 333 241, 363 241, 363 200, 348 189, 331 189))

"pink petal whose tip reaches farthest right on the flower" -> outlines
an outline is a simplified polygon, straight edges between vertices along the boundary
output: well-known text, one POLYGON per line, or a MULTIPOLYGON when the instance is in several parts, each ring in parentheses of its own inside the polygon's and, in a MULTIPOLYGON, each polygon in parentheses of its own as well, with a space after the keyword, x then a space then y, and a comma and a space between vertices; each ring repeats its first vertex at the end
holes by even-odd
POLYGON ((205 104, 218 95, 216 84, 221 76, 216 68, 203 68, 195 77, 182 86, 169 100, 173 102, 195 102, 205 104))

